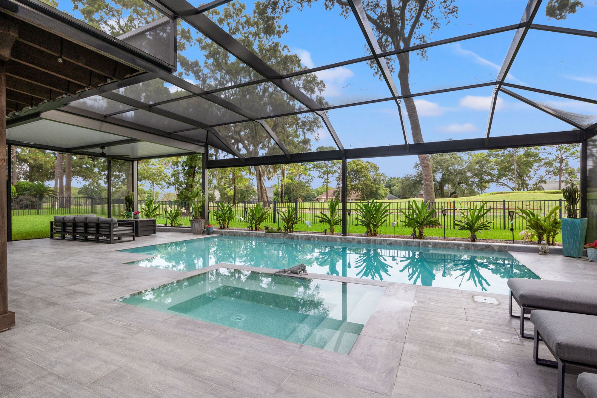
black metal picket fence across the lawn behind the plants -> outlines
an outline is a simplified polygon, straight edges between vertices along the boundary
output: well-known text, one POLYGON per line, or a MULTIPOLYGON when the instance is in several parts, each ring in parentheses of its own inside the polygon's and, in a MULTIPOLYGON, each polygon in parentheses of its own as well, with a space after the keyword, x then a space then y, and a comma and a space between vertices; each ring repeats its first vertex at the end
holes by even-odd
MULTIPOLYGON (((597 202, 597 201, 596 201, 597 202)), ((247 209, 256 206, 259 202, 238 202, 233 206, 234 213, 238 216, 240 224, 247 219, 247 209)), ((392 224, 401 226, 401 221, 404 221, 404 215, 401 210, 408 212, 408 204, 410 201, 388 201, 390 216, 387 218, 384 226, 393 226, 392 224)), ((437 209, 437 217, 442 226, 446 228, 454 228, 454 220, 460 218, 461 213, 466 213, 469 208, 485 203, 486 209, 490 209, 485 219, 491 221, 492 229, 510 229, 509 210, 518 212, 518 209, 529 209, 533 212, 545 215, 555 206, 561 206, 565 203, 561 199, 556 200, 500 200, 500 201, 438 201, 435 203, 437 209), (442 215, 442 210, 447 210, 445 216, 442 215)), ((164 211, 170 207, 177 207, 184 209, 181 218, 190 219, 190 203, 185 201, 156 201, 159 204, 159 214, 164 215, 164 211)), ((268 207, 269 213, 266 224, 277 225, 279 223, 279 212, 288 206, 294 207, 298 215, 304 221, 310 221, 311 224, 318 224, 319 213, 328 213, 328 204, 326 202, 266 202, 262 203, 268 207)), ((355 226, 355 214, 358 203, 348 202, 348 225, 355 226)), ((595 206, 595 204, 591 204, 595 206)), ((139 201, 139 210, 143 209, 144 201, 139 201)), ((210 210, 216 210, 217 203, 210 202, 210 210)), ((341 204, 339 206, 341 208, 341 204)), ((124 212, 124 199, 112 199, 112 215, 118 216, 124 212)), ((61 214, 90 214, 107 215, 107 199, 106 198, 82 198, 82 197, 59 197, 59 198, 35 198, 35 197, 16 197, 13 199, 13 216, 24 215, 61 215, 61 214)), ((567 216, 565 209, 559 210, 560 217, 567 216)), ((211 222, 214 222, 212 220, 211 222)), ((514 228, 516 230, 525 229, 525 222, 520 216, 515 215, 513 220, 514 228)))

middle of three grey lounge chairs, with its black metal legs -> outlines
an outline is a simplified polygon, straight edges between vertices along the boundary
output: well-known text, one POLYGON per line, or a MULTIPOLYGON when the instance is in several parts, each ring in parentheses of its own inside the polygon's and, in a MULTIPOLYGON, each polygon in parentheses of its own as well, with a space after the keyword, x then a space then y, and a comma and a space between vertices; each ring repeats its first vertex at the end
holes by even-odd
POLYGON ((538 365, 558 368, 558 398, 564 398, 564 376, 567 366, 597 371, 597 316, 535 310, 533 359, 538 365), (539 338, 551 351, 555 361, 538 357, 539 338))

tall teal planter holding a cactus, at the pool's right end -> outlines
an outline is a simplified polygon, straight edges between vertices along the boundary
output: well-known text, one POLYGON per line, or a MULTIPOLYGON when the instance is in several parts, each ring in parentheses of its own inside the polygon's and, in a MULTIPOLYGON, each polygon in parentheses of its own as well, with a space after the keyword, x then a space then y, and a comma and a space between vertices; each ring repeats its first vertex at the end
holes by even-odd
POLYGON ((583 255, 584 237, 587 233, 587 219, 577 218, 577 204, 580 189, 574 184, 562 189, 566 201, 567 218, 562 218, 562 254, 578 258, 583 255))

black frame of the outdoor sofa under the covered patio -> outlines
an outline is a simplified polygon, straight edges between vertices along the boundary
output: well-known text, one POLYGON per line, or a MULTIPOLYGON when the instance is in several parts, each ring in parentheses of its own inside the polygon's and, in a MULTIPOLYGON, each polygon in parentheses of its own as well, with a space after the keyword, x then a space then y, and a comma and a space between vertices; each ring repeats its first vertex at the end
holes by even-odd
MULTIPOLYGON (((133 221, 119 222, 118 224, 110 223, 109 227, 101 226, 100 222, 75 222, 75 221, 50 221, 50 239, 57 239, 55 235, 60 235, 61 240, 66 240, 70 237, 70 240, 82 240, 82 241, 93 241, 98 243, 122 243, 128 240, 122 240, 122 237, 132 237, 133 241, 135 237, 135 223, 133 221), (56 223, 56 224, 55 224, 56 223), (54 231, 54 226, 60 224, 60 232, 54 231), (83 224, 83 232, 77 232, 75 224, 83 224), (131 226, 133 232, 115 232, 114 228, 118 226, 131 226), (70 229, 67 231, 66 229, 70 229), (100 229, 109 229, 109 232, 100 232, 100 229), (132 235, 131 235, 132 234, 132 235), (92 238, 90 238, 92 237, 92 238), (103 238, 103 239, 102 239, 103 238), (116 240, 115 240, 116 238, 116 240)), ((80 227, 79 227, 80 228, 80 227)))

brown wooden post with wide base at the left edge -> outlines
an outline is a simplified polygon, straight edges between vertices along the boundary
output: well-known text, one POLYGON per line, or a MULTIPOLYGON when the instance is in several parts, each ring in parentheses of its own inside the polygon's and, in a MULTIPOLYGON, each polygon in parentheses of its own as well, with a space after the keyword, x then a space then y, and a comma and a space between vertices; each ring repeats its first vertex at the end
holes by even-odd
POLYGON ((0 332, 14 326, 14 313, 8 311, 7 258, 7 147, 6 147, 6 70, 13 43, 19 36, 16 23, 0 18, 0 332), (2 192, 4 191, 4 192, 2 192))

